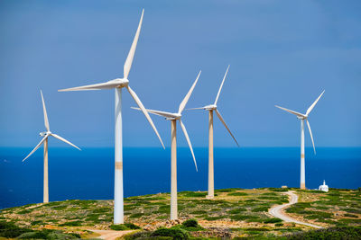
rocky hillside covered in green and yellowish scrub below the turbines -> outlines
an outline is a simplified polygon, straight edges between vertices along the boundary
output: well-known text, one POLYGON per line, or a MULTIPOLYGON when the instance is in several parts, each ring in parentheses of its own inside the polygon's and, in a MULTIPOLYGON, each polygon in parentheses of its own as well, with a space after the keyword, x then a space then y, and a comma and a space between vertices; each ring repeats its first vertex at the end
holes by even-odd
MULTIPOLYGON (((207 200, 206 192, 182 191, 178 194, 179 222, 168 220, 170 194, 130 197, 125 199, 125 222, 134 223, 150 233, 160 227, 181 228, 182 222, 194 218, 199 222, 199 227, 182 229, 190 236, 203 237, 270 237, 310 230, 310 227, 284 223, 268 214, 268 209, 273 205, 288 202, 282 191, 288 190, 217 190, 215 200, 207 200)), ((301 202, 286 210, 292 217, 323 227, 361 226, 360 191, 294 191, 299 194, 301 202)), ((0 221, 3 222, 3 227, 0 225, 0 237, 2 228, 7 226, 5 222, 28 231, 43 232, 46 229, 47 234, 54 231, 62 236, 69 234, 68 238, 63 239, 95 237, 97 235, 91 233, 93 229, 134 228, 130 225, 112 226, 112 218, 111 200, 66 200, 30 204, 1 210, 0 221)))

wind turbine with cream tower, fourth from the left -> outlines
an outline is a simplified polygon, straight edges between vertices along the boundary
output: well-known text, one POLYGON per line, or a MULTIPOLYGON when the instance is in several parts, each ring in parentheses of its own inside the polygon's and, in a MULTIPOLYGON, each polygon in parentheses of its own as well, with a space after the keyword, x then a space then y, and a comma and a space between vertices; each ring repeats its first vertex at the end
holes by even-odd
POLYGON ((201 107, 201 108, 192 108, 189 110, 197 110, 197 109, 203 109, 208 111, 209 120, 208 120, 208 199, 214 198, 214 164, 213 164, 213 111, 216 111, 218 119, 225 125, 226 129, 228 130, 229 134, 232 136, 232 138, 235 140, 236 145, 239 147, 235 136, 233 136, 230 129, 228 129, 227 124, 225 120, 223 120, 222 116, 220 115, 218 109, 217 109, 217 102, 219 98, 220 91, 222 90, 223 84, 225 83, 225 79, 228 73, 229 65, 226 70, 226 74, 223 77, 222 84, 219 86, 218 94, 216 97, 216 101, 213 104, 209 104, 207 106, 201 107))

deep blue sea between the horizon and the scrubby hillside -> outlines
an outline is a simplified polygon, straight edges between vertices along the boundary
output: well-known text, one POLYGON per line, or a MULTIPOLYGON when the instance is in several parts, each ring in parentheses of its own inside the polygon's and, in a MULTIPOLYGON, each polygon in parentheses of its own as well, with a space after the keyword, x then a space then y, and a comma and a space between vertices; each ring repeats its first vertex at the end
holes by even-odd
MULTIPOLYGON (((0 148, 0 209, 42 202, 42 148, 0 148)), ((208 148, 178 148, 178 190, 207 191, 208 148)), ((299 147, 215 148, 215 188, 299 187, 299 147)), ((171 149, 124 148, 125 197, 170 191, 171 149)), ((306 148, 306 186, 361 187, 361 148, 306 148)), ((114 148, 49 149, 50 200, 111 200, 114 148)))

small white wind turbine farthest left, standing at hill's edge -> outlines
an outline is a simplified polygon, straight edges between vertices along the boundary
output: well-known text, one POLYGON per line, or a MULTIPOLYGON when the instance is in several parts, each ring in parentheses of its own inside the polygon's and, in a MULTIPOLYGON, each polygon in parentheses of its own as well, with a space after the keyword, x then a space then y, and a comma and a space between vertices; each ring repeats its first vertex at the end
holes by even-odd
MULTIPOLYGON (((41 95, 42 95, 42 90, 40 91, 41 95)), ((40 141, 40 143, 34 147, 32 149, 32 152, 26 156, 23 161, 25 161, 29 156, 32 156, 32 154, 39 148, 42 146, 42 144, 44 144, 44 187, 43 187, 43 198, 42 201, 44 203, 49 202, 49 181, 48 181, 48 138, 50 136, 54 137, 54 138, 58 138, 60 141, 63 141, 67 144, 69 144, 72 147, 77 147, 74 144, 70 143, 67 139, 61 138, 59 135, 56 135, 55 133, 51 132, 51 128, 49 126, 49 120, 48 120, 48 114, 46 113, 46 108, 45 108, 45 102, 44 102, 44 98, 42 97, 42 110, 44 111, 44 123, 45 123, 45 129, 46 131, 41 132, 39 135, 42 138, 42 140, 40 141)), ((79 150, 80 148, 77 147, 79 150)))

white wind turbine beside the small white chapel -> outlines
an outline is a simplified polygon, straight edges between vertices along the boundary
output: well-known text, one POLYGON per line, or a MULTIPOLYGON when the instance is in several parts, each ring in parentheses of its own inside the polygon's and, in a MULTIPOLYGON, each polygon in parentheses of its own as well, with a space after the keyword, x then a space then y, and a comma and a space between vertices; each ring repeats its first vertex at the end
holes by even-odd
POLYGON ((312 146, 313 146, 313 152, 316 155, 316 148, 315 148, 315 144, 313 142, 313 136, 312 136, 312 131, 310 129, 310 123, 309 123, 309 114, 310 111, 312 111, 312 109, 315 107, 316 103, 319 102, 319 99, 321 98, 321 96, 323 95, 323 93, 325 93, 325 90, 323 90, 323 92, 319 95, 319 97, 316 99, 315 102, 313 102, 310 105, 310 108, 306 111, 306 114, 302 114, 300 112, 297 111, 292 111, 289 109, 285 109, 282 108, 280 106, 275 105, 277 108, 282 109, 284 111, 288 111, 294 115, 297 116, 297 118, 299 120, 301 120, 301 183, 300 183, 300 189, 306 189, 306 180, 305 180, 305 161, 304 161, 304 121, 306 120, 307 123, 307 127, 309 128, 310 131, 310 139, 312 141, 312 146))

